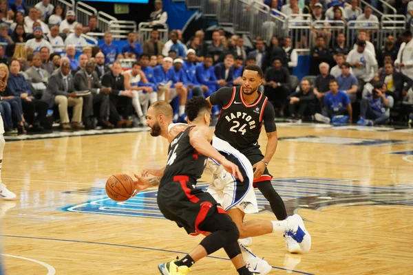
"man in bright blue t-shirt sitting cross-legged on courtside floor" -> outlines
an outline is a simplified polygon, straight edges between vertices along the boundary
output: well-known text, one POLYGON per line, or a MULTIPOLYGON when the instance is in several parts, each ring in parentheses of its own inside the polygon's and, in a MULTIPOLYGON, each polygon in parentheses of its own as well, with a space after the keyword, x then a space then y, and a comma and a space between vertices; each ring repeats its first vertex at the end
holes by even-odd
POLYGON ((339 90, 337 80, 330 80, 330 91, 324 96, 322 115, 315 114, 315 120, 324 123, 346 124, 352 121, 352 107, 350 98, 345 91, 339 90))

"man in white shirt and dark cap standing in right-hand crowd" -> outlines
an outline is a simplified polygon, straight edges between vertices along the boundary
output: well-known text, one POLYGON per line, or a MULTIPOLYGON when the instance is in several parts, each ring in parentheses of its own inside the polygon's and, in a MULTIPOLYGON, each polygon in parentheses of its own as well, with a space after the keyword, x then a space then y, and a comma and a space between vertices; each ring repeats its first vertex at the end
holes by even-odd
POLYGON ((351 50, 346 61, 350 63, 354 76, 359 80, 359 91, 377 75, 377 60, 366 49, 366 41, 357 41, 357 50, 351 50))

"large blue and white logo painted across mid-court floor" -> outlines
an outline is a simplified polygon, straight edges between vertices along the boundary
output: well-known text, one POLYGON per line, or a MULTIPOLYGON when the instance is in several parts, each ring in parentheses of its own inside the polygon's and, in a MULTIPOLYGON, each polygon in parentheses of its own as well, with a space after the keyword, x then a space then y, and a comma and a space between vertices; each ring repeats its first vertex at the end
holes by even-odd
MULTIPOLYGON (((203 189, 207 184, 198 185, 203 189)), ((275 190, 286 204, 287 212, 297 208, 321 210, 328 206, 361 206, 399 204, 413 206, 413 185, 361 186, 348 179, 324 179, 317 177, 295 177, 273 179, 275 190)), ((158 190, 140 192, 124 202, 109 199, 104 188, 87 188, 70 191, 70 194, 96 196, 96 199, 62 208, 64 211, 92 214, 114 214, 132 217, 163 219, 156 203, 158 190)), ((261 211, 271 211, 268 201, 255 189, 261 211)))

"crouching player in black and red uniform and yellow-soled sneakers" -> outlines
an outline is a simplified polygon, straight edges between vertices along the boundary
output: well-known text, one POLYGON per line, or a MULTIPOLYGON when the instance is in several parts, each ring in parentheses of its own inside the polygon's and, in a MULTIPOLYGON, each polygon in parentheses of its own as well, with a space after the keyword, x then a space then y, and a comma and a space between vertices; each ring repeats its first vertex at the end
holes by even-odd
MULTIPOLYGON (((175 221, 188 234, 205 234, 206 237, 184 258, 162 263, 158 268, 164 275, 187 274, 194 263, 224 248, 238 274, 253 274, 244 265, 237 243, 240 236, 237 226, 208 192, 196 188, 208 157, 243 181, 238 167, 211 146, 209 103, 204 98, 203 102, 199 99, 193 98, 187 102, 189 126, 169 144, 167 166, 160 179, 157 202, 165 218, 175 221)), ((151 185, 147 179, 136 178, 136 192, 151 185)))

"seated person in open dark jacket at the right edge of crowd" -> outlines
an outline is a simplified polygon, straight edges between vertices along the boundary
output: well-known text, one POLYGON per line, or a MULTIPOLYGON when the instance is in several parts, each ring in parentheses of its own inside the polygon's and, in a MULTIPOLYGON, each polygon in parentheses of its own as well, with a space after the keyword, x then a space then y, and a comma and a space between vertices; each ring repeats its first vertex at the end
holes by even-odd
POLYGON ((386 94, 392 96, 396 102, 402 101, 403 96, 413 87, 413 80, 401 72, 396 72, 391 63, 384 65, 384 73, 380 82, 386 85, 386 94))

